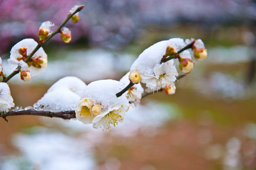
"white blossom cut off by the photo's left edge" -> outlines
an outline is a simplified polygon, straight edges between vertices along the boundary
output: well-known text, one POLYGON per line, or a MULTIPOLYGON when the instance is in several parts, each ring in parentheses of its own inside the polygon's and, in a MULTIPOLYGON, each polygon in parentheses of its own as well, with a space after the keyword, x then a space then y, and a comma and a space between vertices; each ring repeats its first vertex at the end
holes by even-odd
POLYGON ((14 107, 14 103, 9 85, 7 83, 0 83, 0 113, 7 112, 11 107, 14 107))

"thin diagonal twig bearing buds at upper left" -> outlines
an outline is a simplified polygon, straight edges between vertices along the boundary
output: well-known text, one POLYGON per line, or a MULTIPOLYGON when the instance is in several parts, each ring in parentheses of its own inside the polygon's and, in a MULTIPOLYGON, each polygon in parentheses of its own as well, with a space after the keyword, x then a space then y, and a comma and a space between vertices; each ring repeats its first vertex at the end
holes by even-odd
MULTIPOLYGON (((57 33, 60 33, 60 29, 68 22, 68 20, 73 16, 75 15, 77 12, 79 12, 80 10, 82 10, 84 8, 85 5, 81 5, 79 8, 77 8, 73 13, 71 14, 68 14, 68 17, 65 19, 65 21, 51 34, 49 35, 43 43, 38 43, 37 46, 34 48, 34 50, 29 54, 29 56, 27 56, 25 62, 27 63, 31 57, 34 55, 34 53, 40 49, 40 47, 42 47, 42 45, 45 43, 45 42, 48 42, 51 37, 53 37, 55 34, 57 33)), ((9 79, 11 79, 13 76, 17 75, 19 73, 19 66, 9 75, 7 76, 5 79, 2 80, 2 82, 8 82, 9 79)))

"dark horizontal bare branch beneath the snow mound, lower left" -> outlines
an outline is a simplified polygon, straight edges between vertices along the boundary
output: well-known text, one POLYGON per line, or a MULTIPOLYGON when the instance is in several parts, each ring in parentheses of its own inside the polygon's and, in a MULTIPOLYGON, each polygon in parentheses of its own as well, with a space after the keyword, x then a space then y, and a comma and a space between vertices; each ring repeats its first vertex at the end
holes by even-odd
POLYGON ((18 115, 45 116, 45 117, 50 117, 50 118, 61 118, 61 119, 76 118, 76 113, 74 110, 53 112, 53 111, 39 111, 39 110, 34 110, 34 109, 20 110, 20 111, 9 110, 7 113, 3 113, 1 115, 1 117, 8 122, 6 117, 18 116, 18 115))

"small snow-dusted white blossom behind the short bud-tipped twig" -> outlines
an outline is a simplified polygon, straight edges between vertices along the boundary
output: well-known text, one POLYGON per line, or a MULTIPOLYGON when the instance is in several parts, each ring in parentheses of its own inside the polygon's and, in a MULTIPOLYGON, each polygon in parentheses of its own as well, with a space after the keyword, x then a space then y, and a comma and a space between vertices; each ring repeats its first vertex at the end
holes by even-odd
MULTIPOLYGON (((123 76, 120 79, 120 82, 125 83, 126 85, 128 85, 130 83, 129 74, 130 74, 130 72, 128 72, 125 76, 123 76)), ((140 102, 143 92, 144 92, 144 89, 142 88, 141 84, 138 83, 138 84, 133 85, 124 94, 125 94, 126 98, 128 99, 129 104, 131 106, 136 106, 140 102)))

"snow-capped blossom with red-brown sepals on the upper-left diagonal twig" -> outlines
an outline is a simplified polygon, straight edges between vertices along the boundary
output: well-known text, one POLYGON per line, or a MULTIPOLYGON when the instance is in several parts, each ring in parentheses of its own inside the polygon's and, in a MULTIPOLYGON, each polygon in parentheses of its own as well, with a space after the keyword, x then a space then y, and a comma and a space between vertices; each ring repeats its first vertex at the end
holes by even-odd
POLYGON ((43 51, 43 48, 39 48, 32 58, 27 63, 21 63, 25 61, 26 57, 34 50, 38 45, 34 39, 28 38, 24 39, 17 44, 15 44, 10 51, 10 59, 8 59, 9 64, 11 65, 22 65, 29 68, 31 76, 38 76, 40 72, 44 71, 44 68, 47 66, 47 54, 43 51))

